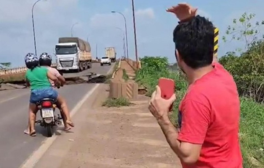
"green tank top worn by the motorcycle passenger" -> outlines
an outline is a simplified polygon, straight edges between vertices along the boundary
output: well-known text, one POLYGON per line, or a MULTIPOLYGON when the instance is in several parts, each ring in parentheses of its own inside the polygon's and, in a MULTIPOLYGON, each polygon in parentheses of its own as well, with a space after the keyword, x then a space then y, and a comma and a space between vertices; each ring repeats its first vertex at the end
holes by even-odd
POLYGON ((47 72, 46 67, 36 67, 33 70, 26 71, 25 77, 30 83, 31 90, 51 87, 47 72))

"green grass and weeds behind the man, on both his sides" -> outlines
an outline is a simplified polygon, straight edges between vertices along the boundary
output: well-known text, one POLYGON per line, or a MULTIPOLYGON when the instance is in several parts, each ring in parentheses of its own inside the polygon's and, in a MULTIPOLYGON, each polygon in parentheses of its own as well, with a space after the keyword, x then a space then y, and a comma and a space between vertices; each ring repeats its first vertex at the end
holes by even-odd
MULTIPOLYGON (((187 82, 180 71, 172 71, 160 66, 162 58, 141 59, 142 68, 136 74, 136 81, 147 87, 147 96, 151 96, 160 77, 171 78, 176 85, 176 101, 170 114, 172 123, 177 126, 179 103, 187 90, 187 82), (145 61, 145 62, 144 62, 145 61), (156 63, 156 64, 153 64, 156 63), (160 66, 160 67, 159 67, 160 66), (153 67, 155 67, 153 69, 153 67)), ((164 61, 164 59, 163 59, 164 61)), ((240 97, 240 146, 243 154, 243 168, 264 167, 264 105, 251 99, 240 97), (261 165, 252 162, 255 158, 261 165)))

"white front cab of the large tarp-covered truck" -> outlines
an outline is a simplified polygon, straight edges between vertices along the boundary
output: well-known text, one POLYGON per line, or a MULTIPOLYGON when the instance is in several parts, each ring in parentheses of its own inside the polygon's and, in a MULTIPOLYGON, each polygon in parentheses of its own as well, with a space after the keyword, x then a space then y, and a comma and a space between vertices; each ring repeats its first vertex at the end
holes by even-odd
POLYGON ((55 48, 57 70, 78 70, 79 53, 77 43, 58 43, 55 48))

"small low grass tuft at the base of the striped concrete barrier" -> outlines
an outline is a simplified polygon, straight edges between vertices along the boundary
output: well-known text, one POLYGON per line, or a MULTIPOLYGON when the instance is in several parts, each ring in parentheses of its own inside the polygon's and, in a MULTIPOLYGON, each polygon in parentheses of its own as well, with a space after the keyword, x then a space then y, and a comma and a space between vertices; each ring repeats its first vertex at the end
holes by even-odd
POLYGON ((130 106, 132 103, 127 98, 107 98, 106 101, 103 102, 102 106, 106 107, 122 107, 122 106, 130 106))

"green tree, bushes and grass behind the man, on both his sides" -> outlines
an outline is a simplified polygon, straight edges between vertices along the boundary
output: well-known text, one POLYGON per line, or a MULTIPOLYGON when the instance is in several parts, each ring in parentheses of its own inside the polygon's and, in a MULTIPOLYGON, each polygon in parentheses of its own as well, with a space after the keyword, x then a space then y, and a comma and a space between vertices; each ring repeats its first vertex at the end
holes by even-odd
MULTIPOLYGON (((224 41, 245 42, 245 48, 228 52, 219 62, 232 74, 240 95, 239 137, 243 153, 244 168, 264 167, 264 41, 260 34, 262 22, 252 23, 254 14, 244 13, 228 26, 224 41), (257 160, 257 161, 252 161, 257 160)), ((187 89, 187 82, 181 71, 168 68, 165 57, 144 57, 136 81, 147 87, 147 95, 155 90, 160 77, 171 78, 176 84, 176 101, 171 115, 172 123, 177 125, 179 102, 187 89)))

